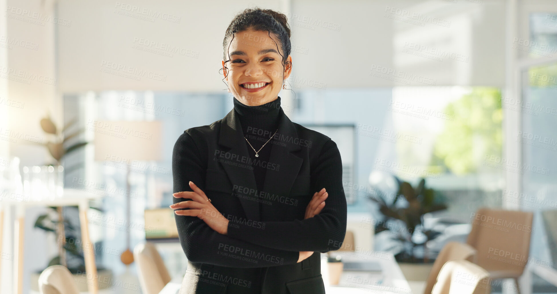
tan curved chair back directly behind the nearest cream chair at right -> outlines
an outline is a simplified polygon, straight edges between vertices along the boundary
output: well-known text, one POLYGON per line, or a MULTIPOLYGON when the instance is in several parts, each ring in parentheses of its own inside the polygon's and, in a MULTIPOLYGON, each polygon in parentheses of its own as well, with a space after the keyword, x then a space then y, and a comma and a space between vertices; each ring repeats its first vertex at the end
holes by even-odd
POLYGON ((426 280, 426 289, 424 290, 424 294, 431 294, 433 290, 433 285, 437 281, 437 276, 441 271, 441 268, 445 263, 452 260, 467 260, 469 262, 475 263, 476 262, 476 249, 472 248, 468 244, 459 243, 459 242, 448 242, 443 246, 441 252, 435 259, 433 263, 433 267, 431 268, 431 272, 429 272, 429 276, 427 276, 426 280))

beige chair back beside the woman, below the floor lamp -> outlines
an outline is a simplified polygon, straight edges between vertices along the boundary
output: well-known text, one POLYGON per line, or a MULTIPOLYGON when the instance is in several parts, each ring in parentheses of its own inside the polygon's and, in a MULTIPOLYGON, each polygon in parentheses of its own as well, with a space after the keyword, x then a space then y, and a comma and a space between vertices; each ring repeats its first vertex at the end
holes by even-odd
POLYGON ((136 245, 134 261, 138 266, 139 283, 143 294, 158 294, 170 282, 170 274, 155 244, 145 242, 136 245))

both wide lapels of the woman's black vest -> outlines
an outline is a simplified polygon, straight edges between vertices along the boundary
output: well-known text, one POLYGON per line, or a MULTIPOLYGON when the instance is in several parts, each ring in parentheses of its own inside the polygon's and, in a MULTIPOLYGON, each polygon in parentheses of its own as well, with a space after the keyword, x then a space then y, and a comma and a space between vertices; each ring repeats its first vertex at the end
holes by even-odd
MULTIPOLYGON (((263 192, 287 196, 304 160, 291 153, 301 148, 299 144, 295 143, 298 142, 298 137, 294 123, 290 121, 282 108, 279 109, 278 116, 278 131, 272 139, 276 143, 269 142, 271 155, 268 161, 268 164, 275 164, 278 168, 275 170, 267 169, 263 192)), ((257 190, 253 170, 246 167, 251 166, 248 160, 250 157, 247 152, 246 140, 243 137, 242 126, 234 109, 222 119, 218 144, 231 148, 228 152, 231 153, 230 157, 233 158, 226 160, 233 164, 223 163, 222 161, 219 161, 219 163, 226 171, 232 185, 257 190), (237 165, 234 165, 235 163, 237 165), (241 165, 245 166, 242 167, 241 165)), ((257 195, 248 196, 250 198, 257 197, 257 195)), ((238 197, 238 200, 242 204, 247 219, 261 220, 257 201, 245 197, 238 197)))

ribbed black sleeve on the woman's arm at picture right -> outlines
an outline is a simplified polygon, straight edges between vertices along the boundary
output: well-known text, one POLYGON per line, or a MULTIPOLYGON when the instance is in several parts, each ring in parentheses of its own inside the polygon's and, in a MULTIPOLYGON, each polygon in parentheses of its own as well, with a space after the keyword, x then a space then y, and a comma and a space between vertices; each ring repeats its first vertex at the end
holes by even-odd
MULTIPOLYGON (((228 224, 228 236, 253 244, 293 251, 338 250, 346 234, 346 196, 342 162, 336 143, 329 139, 321 148, 316 166, 311 167, 312 191, 323 187, 329 193, 325 207, 312 218, 292 221, 262 221, 262 228, 228 224)), ((312 197, 308 195, 308 197, 312 197)))

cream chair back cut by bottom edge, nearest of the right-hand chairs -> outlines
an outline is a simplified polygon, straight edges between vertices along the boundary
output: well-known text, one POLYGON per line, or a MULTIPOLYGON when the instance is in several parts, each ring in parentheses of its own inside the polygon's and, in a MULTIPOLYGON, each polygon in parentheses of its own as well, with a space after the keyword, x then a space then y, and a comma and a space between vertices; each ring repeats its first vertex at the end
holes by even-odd
POLYGON ((441 267, 432 294, 489 294, 489 273, 465 260, 448 261, 441 267))

